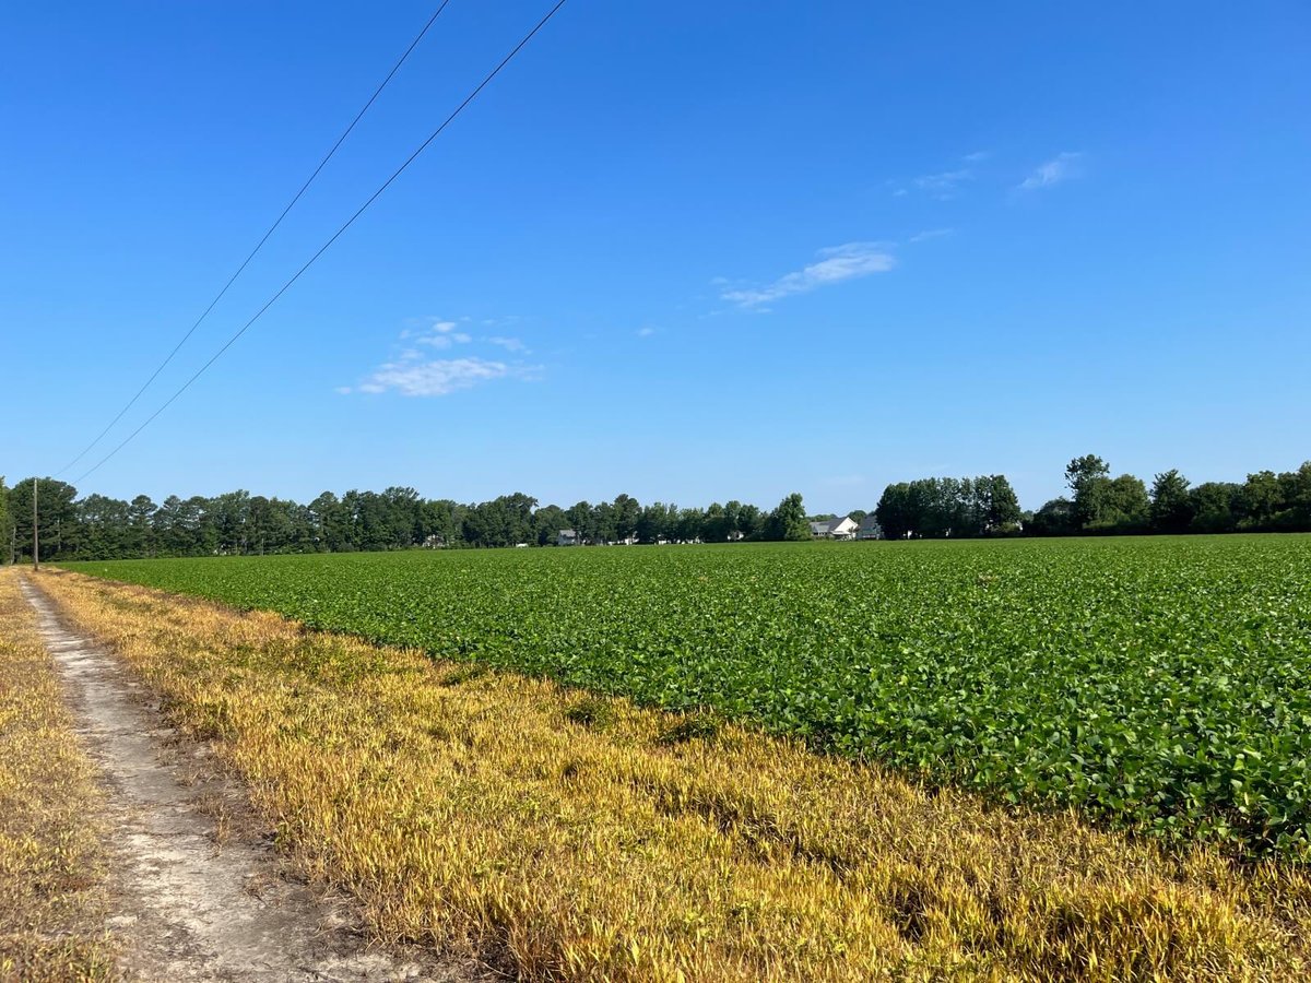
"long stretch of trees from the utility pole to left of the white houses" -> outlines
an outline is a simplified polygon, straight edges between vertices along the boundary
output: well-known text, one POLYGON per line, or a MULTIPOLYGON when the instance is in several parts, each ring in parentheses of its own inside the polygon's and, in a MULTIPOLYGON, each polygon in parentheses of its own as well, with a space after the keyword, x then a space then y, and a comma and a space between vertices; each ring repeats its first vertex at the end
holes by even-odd
MULTIPOLYGON (((159 505, 148 495, 79 498, 77 489, 52 478, 41 478, 37 494, 41 554, 50 560, 553 545, 561 530, 587 544, 810 537, 800 494, 770 511, 737 501, 708 509, 644 506, 627 494, 568 509, 539 506, 523 493, 461 505, 399 486, 340 497, 324 492, 308 505, 244 490, 169 495, 159 505)), ((17 560, 31 554, 31 478, 13 488, 0 478, 0 532, 17 560)))

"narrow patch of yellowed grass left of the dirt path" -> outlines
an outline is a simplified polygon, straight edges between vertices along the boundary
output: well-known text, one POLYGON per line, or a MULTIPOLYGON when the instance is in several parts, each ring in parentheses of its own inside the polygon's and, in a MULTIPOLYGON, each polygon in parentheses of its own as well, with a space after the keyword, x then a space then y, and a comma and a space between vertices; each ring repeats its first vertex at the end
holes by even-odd
POLYGON ((0 979, 106 979, 94 771, 17 574, 0 570, 0 979))

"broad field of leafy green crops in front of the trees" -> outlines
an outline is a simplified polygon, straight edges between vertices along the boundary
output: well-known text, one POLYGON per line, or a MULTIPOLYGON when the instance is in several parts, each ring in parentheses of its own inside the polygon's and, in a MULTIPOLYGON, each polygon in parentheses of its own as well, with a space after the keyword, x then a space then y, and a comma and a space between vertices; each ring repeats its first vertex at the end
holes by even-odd
POLYGON ((1311 860, 1308 550, 1194 536, 79 569, 1311 860))

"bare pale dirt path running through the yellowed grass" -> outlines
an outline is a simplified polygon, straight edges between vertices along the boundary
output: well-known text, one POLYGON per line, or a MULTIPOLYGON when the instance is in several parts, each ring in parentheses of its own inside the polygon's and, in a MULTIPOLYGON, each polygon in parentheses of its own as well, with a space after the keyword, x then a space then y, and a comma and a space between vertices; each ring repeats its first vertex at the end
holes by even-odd
POLYGON ((343 902, 283 876, 269 845, 232 838, 201 809, 199 748, 178 746, 139 683, 72 632, 26 579, 26 600, 63 676, 88 754, 105 776, 114 917, 127 979, 472 980, 473 967, 367 949, 343 902))

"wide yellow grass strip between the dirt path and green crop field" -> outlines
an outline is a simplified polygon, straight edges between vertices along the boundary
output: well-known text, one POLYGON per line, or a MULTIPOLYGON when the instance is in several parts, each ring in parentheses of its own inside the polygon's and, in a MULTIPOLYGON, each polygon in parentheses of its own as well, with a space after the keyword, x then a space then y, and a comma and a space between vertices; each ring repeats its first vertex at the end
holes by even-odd
POLYGON ((528 979, 1307 978, 1311 881, 1291 869, 273 615, 38 582, 385 940, 528 979))

